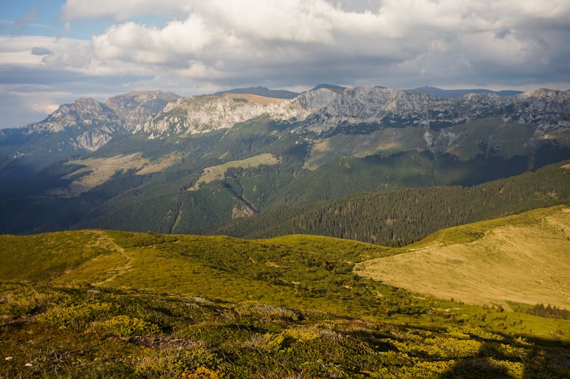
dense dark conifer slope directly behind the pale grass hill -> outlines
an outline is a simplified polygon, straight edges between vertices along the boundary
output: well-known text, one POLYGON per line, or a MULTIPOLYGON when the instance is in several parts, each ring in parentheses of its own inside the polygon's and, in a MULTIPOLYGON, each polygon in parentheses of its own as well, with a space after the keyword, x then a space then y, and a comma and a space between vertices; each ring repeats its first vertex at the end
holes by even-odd
POLYGON ((203 232, 267 238, 318 234, 402 246, 444 227, 570 201, 570 161, 473 187, 369 193, 237 219, 203 232))

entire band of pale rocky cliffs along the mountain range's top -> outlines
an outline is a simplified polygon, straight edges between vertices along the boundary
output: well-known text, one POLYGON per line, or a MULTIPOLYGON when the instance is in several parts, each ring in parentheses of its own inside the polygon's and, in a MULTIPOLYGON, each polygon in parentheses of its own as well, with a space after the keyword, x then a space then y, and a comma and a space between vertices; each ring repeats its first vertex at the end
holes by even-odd
MULTIPOLYGON (((537 89, 515 96, 469 93, 447 98, 377 87, 317 88, 294 99, 247 93, 180 97, 161 91, 131 92, 103 103, 78 99, 61 105, 43 121, 6 133, 28 136, 28 140, 49 135, 50 142, 44 142, 42 149, 46 154, 59 152, 53 159, 62 159, 95 151, 117 135, 141 133, 152 139, 206 133, 229 129, 262 115, 296 121, 291 123, 290 131, 312 141, 360 125, 421 127, 427 148, 433 148, 436 140, 457 140, 459 134, 452 127, 495 117, 504 123, 533 125, 532 144, 556 133, 570 132, 570 91, 537 89)), ((465 135, 465 131, 461 133, 465 135)), ((0 142, 6 138, 2 135, 0 142)), ((39 145, 32 142, 5 147, 5 156, 15 159, 36 154, 39 145)))

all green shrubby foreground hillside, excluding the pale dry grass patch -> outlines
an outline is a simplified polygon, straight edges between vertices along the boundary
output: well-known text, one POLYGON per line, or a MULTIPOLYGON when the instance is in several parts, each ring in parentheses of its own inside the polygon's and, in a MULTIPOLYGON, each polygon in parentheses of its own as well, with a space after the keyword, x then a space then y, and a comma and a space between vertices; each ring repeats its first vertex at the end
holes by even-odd
MULTIPOLYGON (((563 209, 490 223, 541 226, 563 209)), ((355 274, 410 249, 484 241, 489 226, 407 250, 306 235, 3 235, 0 377, 570 376, 564 309, 511 301, 505 311, 355 274)))

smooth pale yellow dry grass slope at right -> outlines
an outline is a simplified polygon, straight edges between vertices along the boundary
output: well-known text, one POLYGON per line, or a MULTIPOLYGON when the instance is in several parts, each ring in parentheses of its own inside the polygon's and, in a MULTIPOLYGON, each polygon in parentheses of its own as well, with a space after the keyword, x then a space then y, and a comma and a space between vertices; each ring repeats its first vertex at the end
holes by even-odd
POLYGON ((471 304, 570 308, 570 209, 555 206, 438 231, 357 274, 471 304))

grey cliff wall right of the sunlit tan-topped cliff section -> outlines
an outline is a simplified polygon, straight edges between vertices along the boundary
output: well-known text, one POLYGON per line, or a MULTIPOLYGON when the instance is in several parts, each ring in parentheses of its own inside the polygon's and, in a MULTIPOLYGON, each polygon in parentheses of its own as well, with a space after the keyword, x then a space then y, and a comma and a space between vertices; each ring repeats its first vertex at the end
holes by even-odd
POLYGON ((483 117, 570 126, 570 92, 539 89, 517 96, 470 93, 456 99, 389 88, 359 87, 336 94, 312 113, 304 128, 323 133, 345 124, 421 125, 442 129, 483 117))

